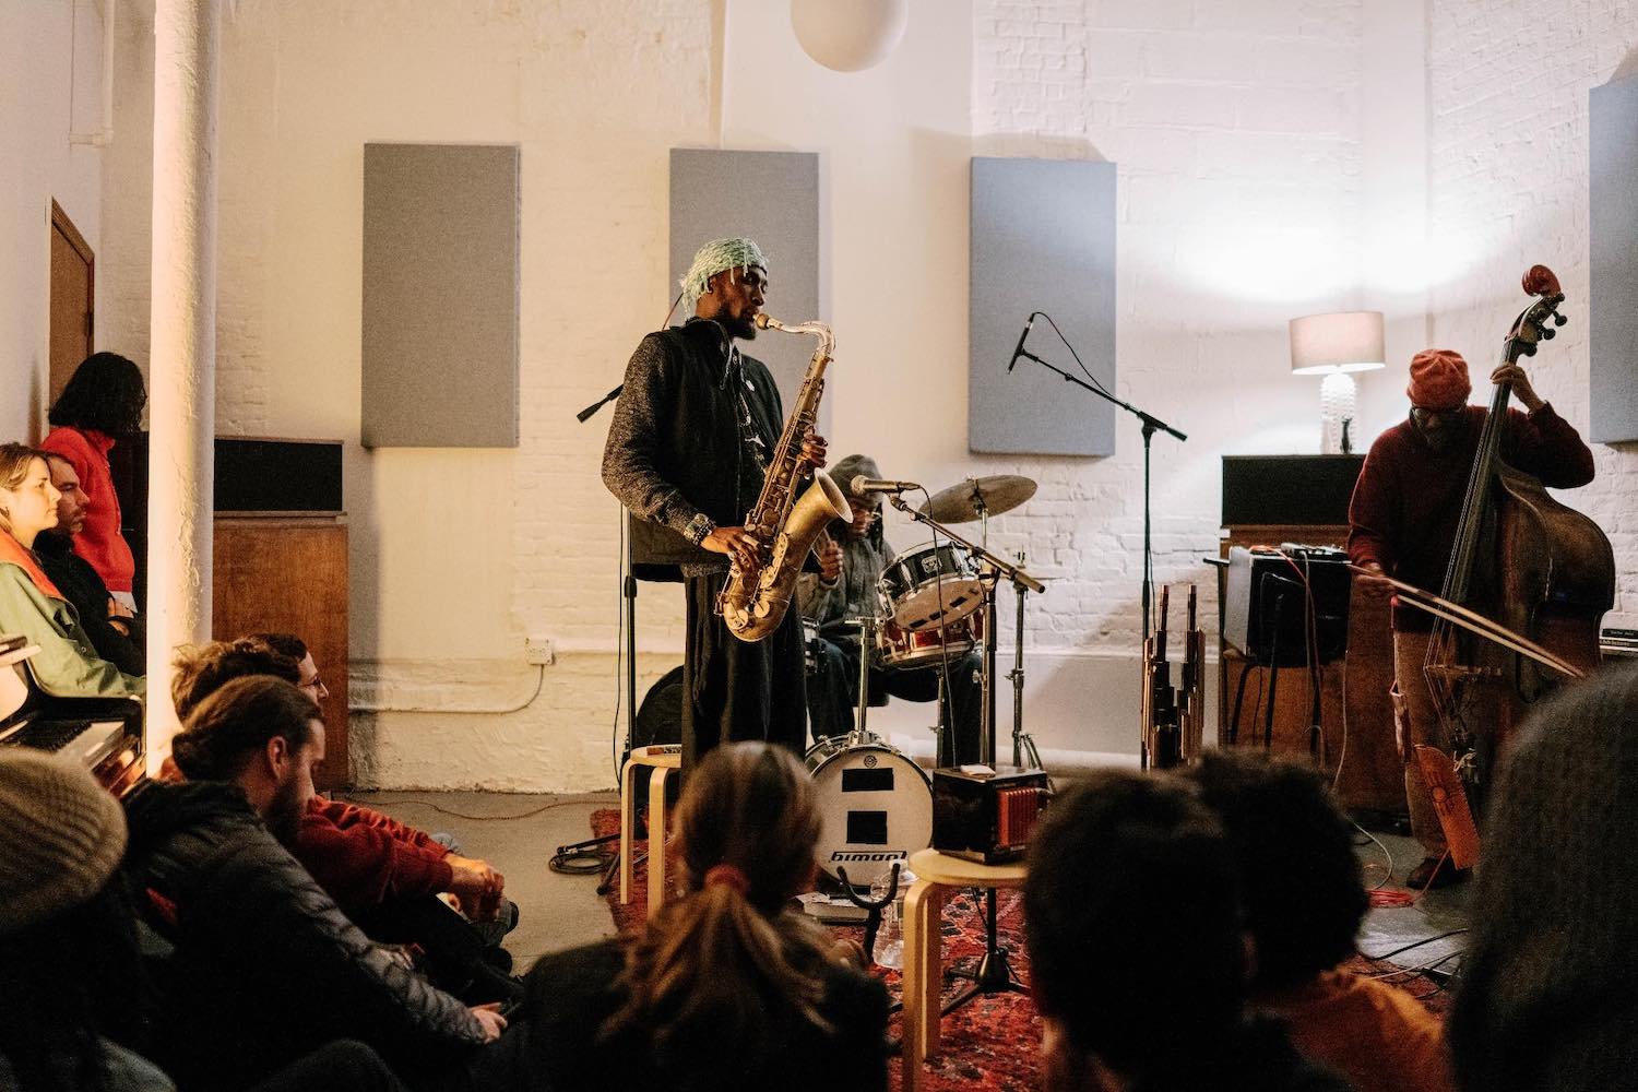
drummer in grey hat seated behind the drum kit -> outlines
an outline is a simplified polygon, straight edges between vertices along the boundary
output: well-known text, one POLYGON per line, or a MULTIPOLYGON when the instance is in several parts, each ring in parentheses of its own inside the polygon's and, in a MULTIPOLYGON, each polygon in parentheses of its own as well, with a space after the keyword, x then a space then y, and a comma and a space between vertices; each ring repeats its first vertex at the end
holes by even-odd
MULTIPOLYGON (((878 616, 876 581, 893 563, 894 553, 881 535, 880 494, 857 496, 855 476, 880 478, 876 460, 848 455, 830 476, 847 493, 853 521, 837 521, 830 537, 840 550, 840 576, 826 580, 819 573, 803 573, 796 586, 803 617, 819 627, 817 655, 808 675, 808 724, 814 740, 845 735, 853 727, 858 707, 858 630, 847 619, 878 616)), ((829 558, 834 570, 835 558, 829 558)), ((948 663, 934 661, 924 668, 883 671, 871 665, 870 693, 886 693, 907 701, 939 701, 939 675, 948 670, 950 727, 953 738, 939 748, 940 765, 980 761, 980 670, 983 657, 976 650, 952 652, 948 663), (953 755, 948 748, 953 747, 953 755), (953 758, 953 761, 950 761, 953 758)))

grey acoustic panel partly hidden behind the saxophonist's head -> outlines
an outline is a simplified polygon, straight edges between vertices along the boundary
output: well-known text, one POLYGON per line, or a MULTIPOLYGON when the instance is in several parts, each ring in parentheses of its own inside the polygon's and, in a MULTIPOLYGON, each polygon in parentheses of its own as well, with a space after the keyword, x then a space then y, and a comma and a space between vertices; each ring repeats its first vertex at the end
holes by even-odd
MULTIPOLYGON (((711 239, 749 236, 768 257, 768 314, 781 323, 827 323, 819 296, 819 156, 814 152, 737 152, 672 149, 672 283, 688 272, 695 250, 711 239)), ((678 305, 681 306, 681 305, 678 305)), ((688 314, 678 311, 673 323, 688 314)), ((835 331, 837 362, 827 375, 845 381, 845 332, 835 331)), ((758 331, 744 352, 773 372, 785 413, 817 347, 814 337, 758 331)), ((821 432, 829 399, 819 404, 821 432)))

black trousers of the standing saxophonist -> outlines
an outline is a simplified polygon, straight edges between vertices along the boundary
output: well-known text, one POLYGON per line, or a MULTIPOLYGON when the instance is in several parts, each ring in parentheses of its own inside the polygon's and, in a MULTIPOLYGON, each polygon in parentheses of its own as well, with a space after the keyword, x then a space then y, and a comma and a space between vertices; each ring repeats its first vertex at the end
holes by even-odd
POLYGON ((716 612, 727 573, 688 576, 688 640, 683 647, 683 773, 717 743, 767 740, 803 755, 808 699, 803 627, 786 611, 767 640, 744 642, 716 612))

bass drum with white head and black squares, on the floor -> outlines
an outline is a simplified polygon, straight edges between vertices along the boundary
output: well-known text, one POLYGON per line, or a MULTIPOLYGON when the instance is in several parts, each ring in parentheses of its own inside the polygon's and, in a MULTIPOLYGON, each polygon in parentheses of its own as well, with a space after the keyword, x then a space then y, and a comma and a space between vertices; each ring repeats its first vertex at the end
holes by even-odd
POLYGON ((821 815, 814 856, 830 879, 845 868, 850 884, 868 887, 932 845, 932 781, 898 748, 832 737, 808 751, 808 769, 821 815))

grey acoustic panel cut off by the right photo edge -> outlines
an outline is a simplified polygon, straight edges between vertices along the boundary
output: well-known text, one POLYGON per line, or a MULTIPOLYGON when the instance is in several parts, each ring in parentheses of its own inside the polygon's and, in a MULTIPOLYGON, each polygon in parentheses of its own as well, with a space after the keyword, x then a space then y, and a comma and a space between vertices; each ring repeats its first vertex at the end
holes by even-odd
POLYGON ((1638 440, 1638 79, 1592 88, 1592 439, 1638 440))

